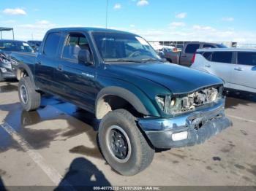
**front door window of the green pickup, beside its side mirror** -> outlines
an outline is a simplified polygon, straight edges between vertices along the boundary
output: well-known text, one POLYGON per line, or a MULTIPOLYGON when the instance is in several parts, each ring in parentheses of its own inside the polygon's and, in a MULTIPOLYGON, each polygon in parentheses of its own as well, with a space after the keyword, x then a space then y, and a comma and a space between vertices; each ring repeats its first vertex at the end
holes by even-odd
POLYGON ((69 34, 64 45, 62 58, 78 61, 78 53, 80 50, 89 50, 89 43, 83 34, 69 34))

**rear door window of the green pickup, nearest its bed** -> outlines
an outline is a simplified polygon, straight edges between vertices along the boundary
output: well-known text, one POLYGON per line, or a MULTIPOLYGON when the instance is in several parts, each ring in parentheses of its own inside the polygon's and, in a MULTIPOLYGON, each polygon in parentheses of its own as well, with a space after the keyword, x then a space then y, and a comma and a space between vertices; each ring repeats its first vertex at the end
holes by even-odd
POLYGON ((48 34, 45 46, 44 46, 44 54, 48 57, 56 56, 59 47, 59 40, 61 39, 60 33, 50 33, 48 34))

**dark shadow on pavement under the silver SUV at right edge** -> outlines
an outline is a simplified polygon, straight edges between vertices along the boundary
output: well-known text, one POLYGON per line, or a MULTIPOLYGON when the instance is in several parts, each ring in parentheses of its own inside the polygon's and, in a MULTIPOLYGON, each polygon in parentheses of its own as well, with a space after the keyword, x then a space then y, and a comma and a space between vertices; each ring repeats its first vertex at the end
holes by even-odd
POLYGON ((225 94, 226 103, 225 108, 235 109, 239 104, 247 106, 250 103, 256 103, 256 94, 254 93, 244 93, 238 90, 230 90, 225 94))

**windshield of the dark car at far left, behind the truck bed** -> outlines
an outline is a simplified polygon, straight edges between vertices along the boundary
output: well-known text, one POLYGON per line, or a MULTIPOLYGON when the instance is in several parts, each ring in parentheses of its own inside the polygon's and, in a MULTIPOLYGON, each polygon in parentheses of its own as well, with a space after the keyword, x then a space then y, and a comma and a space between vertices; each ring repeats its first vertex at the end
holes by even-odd
POLYGON ((0 42, 0 50, 16 52, 34 52, 26 42, 0 42))

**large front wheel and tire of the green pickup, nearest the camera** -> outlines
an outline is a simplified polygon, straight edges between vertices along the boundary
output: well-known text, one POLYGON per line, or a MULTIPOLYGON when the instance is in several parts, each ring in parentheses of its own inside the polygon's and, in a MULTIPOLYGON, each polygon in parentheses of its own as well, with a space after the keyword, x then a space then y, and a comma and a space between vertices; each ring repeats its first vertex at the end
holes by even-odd
POLYGON ((145 137, 140 132, 140 129, 136 125, 135 117, 125 109, 114 110, 103 117, 99 124, 99 147, 108 164, 119 174, 125 176, 132 176, 143 171, 151 164, 154 158, 154 149, 150 147, 145 137), (112 145, 110 144, 110 140, 112 140, 111 138, 113 138, 113 136, 109 139, 110 133, 108 132, 110 132, 110 129, 115 130, 112 129, 113 127, 124 130, 129 139, 129 141, 127 141, 130 143, 130 148, 129 144, 127 144, 127 152, 130 152, 130 154, 127 155, 129 158, 127 157, 122 161, 114 156, 113 149, 111 149, 112 145))

